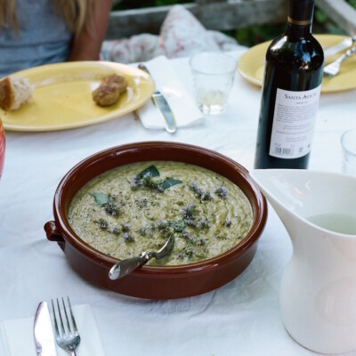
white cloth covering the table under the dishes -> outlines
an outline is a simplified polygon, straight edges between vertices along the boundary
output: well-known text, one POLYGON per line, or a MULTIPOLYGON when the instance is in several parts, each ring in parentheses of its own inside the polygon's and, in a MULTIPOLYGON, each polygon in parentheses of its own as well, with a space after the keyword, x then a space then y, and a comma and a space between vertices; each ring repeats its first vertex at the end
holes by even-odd
MULTIPOLYGON (((191 93, 188 61, 172 62, 191 93)), ((174 135, 146 130, 131 114, 70 131, 6 133, 0 182, 0 321, 29 317, 39 301, 69 295, 73 304, 91 304, 108 356, 313 354, 288 336, 280 318, 279 283, 292 247, 271 207, 247 270, 224 287, 180 300, 140 300, 93 286, 71 270, 61 249, 44 234, 44 223, 53 220, 53 194, 61 177, 99 150, 127 142, 187 142, 251 169, 261 90, 239 74, 235 79, 223 115, 206 117, 203 125, 174 135)), ((310 169, 340 172, 340 135, 356 127, 355 112, 356 91, 321 95, 310 169)))

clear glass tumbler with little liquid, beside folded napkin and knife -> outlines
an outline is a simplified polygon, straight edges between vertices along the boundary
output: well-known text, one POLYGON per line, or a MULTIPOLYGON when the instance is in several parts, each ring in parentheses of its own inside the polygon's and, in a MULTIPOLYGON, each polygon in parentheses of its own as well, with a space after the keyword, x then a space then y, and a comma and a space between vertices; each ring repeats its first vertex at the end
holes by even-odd
POLYGON ((203 52, 190 58, 195 98, 199 109, 208 115, 225 108, 237 69, 237 61, 220 52, 203 52))

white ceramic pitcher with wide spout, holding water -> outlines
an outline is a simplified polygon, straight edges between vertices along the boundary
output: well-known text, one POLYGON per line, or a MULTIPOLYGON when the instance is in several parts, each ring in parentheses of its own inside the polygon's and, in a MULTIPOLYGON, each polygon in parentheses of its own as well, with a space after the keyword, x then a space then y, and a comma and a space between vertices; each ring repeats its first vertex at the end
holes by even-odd
POLYGON ((250 174, 293 245, 280 286, 288 333, 315 352, 356 349, 356 177, 292 169, 250 174))

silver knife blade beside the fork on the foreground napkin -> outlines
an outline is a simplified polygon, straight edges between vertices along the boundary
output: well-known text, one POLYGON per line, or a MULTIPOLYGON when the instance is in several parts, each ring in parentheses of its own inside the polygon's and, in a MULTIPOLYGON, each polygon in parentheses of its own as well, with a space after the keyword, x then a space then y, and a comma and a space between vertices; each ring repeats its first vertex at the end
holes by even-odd
POLYGON ((50 312, 46 302, 38 304, 34 321, 34 337, 37 356, 57 356, 50 312))

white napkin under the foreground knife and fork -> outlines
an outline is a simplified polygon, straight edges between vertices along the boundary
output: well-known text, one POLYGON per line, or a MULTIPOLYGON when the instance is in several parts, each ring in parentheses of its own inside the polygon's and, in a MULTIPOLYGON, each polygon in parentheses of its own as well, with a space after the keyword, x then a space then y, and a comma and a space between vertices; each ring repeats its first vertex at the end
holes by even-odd
MULTIPOLYGON (((78 355, 104 356, 101 337, 90 305, 74 305, 73 314, 76 318, 77 328, 81 336, 77 347, 78 355)), ((5 356, 36 355, 33 336, 33 318, 4 320, 1 325, 1 334, 4 341, 5 356)), ((56 345, 58 356, 67 356, 68 353, 56 345)))

